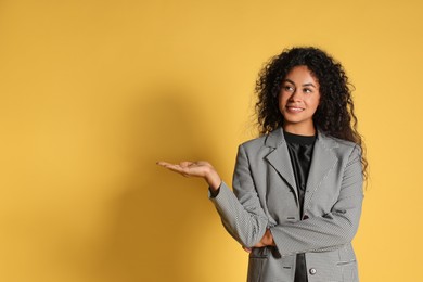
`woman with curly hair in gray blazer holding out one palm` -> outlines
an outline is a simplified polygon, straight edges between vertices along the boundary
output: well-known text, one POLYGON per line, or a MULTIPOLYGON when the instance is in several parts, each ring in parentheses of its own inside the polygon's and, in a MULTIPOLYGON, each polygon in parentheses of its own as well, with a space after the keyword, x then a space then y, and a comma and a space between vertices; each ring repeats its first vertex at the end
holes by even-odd
POLYGON ((274 56, 256 85, 260 137, 239 146, 233 193, 207 162, 158 164, 204 178, 249 253, 248 281, 358 281, 351 240, 367 162, 348 78, 316 48, 274 56))

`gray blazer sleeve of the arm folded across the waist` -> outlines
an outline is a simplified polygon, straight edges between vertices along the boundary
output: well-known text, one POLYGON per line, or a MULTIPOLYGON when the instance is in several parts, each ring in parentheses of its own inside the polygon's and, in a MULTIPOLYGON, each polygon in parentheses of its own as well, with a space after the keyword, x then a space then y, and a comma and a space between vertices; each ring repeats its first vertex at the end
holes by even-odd
POLYGON ((270 228, 282 256, 333 249, 355 236, 363 200, 361 151, 355 146, 344 169, 341 192, 330 213, 270 228))

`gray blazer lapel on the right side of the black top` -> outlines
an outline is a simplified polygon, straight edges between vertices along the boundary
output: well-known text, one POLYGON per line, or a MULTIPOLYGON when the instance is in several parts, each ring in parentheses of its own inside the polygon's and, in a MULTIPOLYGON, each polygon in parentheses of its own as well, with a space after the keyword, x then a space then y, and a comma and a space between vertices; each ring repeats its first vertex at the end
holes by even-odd
POLYGON ((316 139, 310 171, 307 179, 307 191, 304 200, 304 210, 307 210, 310 205, 310 201, 320 188, 322 180, 326 175, 335 167, 338 162, 337 156, 333 153, 332 149, 337 146, 337 143, 318 131, 318 138, 316 139))

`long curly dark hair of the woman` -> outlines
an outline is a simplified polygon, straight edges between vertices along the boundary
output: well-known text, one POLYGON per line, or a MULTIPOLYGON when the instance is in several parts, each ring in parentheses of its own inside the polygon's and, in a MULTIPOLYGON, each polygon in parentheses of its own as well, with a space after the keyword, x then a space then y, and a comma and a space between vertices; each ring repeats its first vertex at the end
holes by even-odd
POLYGON ((348 77, 339 62, 324 51, 313 48, 285 49, 270 59, 259 73, 255 92, 258 95, 256 114, 259 133, 266 134, 283 125, 279 110, 278 95, 282 81, 295 66, 307 66, 320 88, 320 103, 313 115, 313 123, 319 130, 334 138, 352 141, 362 151, 363 175, 367 176, 364 144, 357 131, 357 117, 354 113, 351 89, 348 77))

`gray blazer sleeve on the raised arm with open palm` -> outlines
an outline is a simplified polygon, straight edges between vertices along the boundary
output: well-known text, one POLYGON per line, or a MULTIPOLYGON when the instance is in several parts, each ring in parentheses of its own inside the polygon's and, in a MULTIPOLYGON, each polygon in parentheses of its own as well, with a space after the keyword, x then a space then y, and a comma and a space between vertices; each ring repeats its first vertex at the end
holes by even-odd
POLYGON ((243 246, 253 247, 264 236, 268 218, 261 208, 242 145, 236 155, 233 190, 236 195, 222 182, 218 195, 210 200, 227 231, 243 246))

